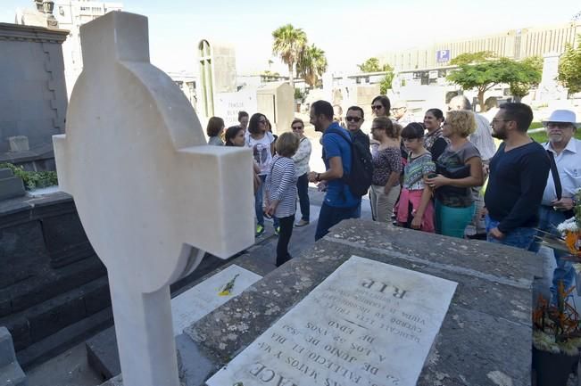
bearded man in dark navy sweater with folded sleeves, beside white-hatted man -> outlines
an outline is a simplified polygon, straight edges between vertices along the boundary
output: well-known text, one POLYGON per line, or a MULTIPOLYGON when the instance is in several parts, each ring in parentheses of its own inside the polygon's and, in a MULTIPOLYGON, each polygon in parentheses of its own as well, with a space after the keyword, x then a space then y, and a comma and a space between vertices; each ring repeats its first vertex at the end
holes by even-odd
POLYGON ((501 105, 492 126, 493 136, 504 142, 490 161, 485 194, 487 240, 525 250, 535 237, 551 168, 543 146, 527 135, 532 121, 527 104, 501 105))

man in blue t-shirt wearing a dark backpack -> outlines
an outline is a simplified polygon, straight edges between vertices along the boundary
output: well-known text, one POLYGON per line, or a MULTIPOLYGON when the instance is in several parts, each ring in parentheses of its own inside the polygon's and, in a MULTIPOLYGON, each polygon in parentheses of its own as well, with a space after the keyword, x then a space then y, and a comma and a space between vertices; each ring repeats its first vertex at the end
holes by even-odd
POLYGON ((369 190, 373 170, 370 157, 361 154, 358 147, 353 146, 349 132, 333 121, 331 103, 312 103, 310 115, 315 131, 323 133, 323 161, 327 169, 324 173, 309 173, 310 182, 327 184, 315 232, 316 241, 344 219, 359 218, 361 196, 369 190))

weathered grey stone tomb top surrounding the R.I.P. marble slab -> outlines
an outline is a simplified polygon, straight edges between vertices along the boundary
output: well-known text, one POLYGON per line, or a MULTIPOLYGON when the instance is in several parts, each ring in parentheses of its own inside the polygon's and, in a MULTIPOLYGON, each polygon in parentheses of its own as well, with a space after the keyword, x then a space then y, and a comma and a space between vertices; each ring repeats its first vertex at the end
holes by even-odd
MULTIPOLYGON (((184 361, 182 382, 203 386, 352 255, 459 283, 418 385, 498 386, 499 379, 530 384, 531 286, 542 275, 538 256, 361 220, 344 221, 313 250, 187 328, 191 340, 182 340, 179 351, 195 356, 184 361), (211 365, 196 367, 200 361, 211 365)), ((116 379, 108 386, 120 384, 116 379)))

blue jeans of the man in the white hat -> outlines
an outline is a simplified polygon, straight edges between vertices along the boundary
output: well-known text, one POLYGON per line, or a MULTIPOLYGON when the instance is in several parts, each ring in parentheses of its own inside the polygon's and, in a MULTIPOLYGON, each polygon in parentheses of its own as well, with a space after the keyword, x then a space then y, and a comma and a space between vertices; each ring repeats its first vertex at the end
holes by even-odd
MULTIPOLYGON (((555 236, 560 236, 559 231, 557 231, 557 226, 565 221, 565 215, 559 210, 554 210, 552 207, 541 206, 539 209, 539 226, 538 228, 544 232, 554 234, 555 236)), ((541 233, 539 232, 539 235, 541 233)), ((541 245, 537 240, 535 240, 528 250, 532 252, 538 252, 541 245)), ((563 250, 552 250, 555 255, 555 260, 557 262, 557 267, 552 274, 552 286, 551 294, 552 300, 557 300, 557 289, 559 288, 559 282, 563 282, 565 291, 567 291, 573 281, 575 280, 575 269, 573 268, 573 263, 567 260, 561 259, 564 256, 568 256, 569 253, 563 250)))

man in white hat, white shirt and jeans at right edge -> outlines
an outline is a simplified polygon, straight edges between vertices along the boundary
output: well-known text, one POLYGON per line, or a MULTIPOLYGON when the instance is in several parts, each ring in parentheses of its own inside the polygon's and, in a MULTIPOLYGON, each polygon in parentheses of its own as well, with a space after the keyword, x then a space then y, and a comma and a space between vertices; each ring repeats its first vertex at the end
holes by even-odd
MULTIPOLYGON (((581 188, 581 141, 573 137, 581 125, 577 122, 575 112, 569 110, 552 111, 551 117, 543 121, 543 125, 549 137, 549 142, 544 144, 544 148, 550 152, 548 155, 554 160, 552 168, 556 166, 559 181, 555 184, 552 170, 544 188, 538 228, 547 233, 560 235, 557 226, 570 217, 570 212, 567 211, 577 204, 575 193, 581 188)), ((535 252, 539 250, 538 242, 531 246, 531 250, 535 252)), ((558 300, 559 283, 562 281, 567 290, 573 283, 575 270, 570 261, 561 259, 567 256, 566 252, 560 250, 553 252, 557 260, 551 286, 554 304, 558 300)))

